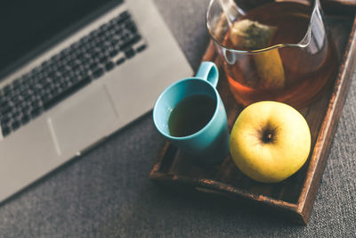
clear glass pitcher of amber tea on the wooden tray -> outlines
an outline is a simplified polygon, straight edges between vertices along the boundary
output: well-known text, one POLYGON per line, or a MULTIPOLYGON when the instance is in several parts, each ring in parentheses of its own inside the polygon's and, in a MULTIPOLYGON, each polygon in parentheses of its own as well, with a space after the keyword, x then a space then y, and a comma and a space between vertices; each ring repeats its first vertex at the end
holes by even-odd
POLYGON ((336 76, 335 45, 320 1, 247 4, 211 0, 206 12, 231 93, 244 106, 272 100, 303 108, 336 76))

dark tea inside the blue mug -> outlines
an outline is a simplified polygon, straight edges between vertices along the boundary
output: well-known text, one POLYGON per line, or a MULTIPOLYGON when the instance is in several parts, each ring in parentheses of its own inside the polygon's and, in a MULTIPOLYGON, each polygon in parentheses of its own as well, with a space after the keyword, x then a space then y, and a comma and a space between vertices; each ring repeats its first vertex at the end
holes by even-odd
POLYGON ((181 137, 198 132, 212 119, 215 107, 216 101, 205 94, 195 94, 183 99, 169 116, 169 134, 181 137))

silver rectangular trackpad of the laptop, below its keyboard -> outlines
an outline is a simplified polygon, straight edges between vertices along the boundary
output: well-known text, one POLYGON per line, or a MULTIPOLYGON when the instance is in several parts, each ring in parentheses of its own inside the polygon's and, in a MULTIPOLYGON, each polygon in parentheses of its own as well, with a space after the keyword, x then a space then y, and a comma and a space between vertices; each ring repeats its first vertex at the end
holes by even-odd
POLYGON ((84 150, 88 144, 109 134, 110 128, 117 123, 117 111, 106 88, 88 89, 85 96, 62 103, 47 121, 60 156, 84 150))

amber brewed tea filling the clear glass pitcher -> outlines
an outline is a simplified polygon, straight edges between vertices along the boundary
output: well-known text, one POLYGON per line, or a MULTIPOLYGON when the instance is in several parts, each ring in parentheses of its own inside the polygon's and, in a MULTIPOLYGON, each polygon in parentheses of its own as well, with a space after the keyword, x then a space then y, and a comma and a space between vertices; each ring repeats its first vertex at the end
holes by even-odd
MULTIPOLYGON (((239 21, 269 26, 273 34, 267 45, 298 44, 307 33, 312 7, 291 2, 263 4, 239 21)), ((319 19, 314 18, 314 21, 319 19)), ((319 26, 318 26, 319 27, 319 26)), ((322 25, 323 27, 323 25, 322 25)), ((239 103, 248 105, 273 100, 302 107, 327 88, 336 75, 337 59, 327 31, 319 30, 306 47, 279 47, 263 53, 231 53, 223 57, 223 68, 231 92, 239 103), (314 37, 314 38, 313 38, 314 37)), ((271 31, 270 31, 271 32, 271 31)), ((223 45, 235 50, 256 50, 231 40, 229 30, 223 45)), ((254 39, 252 39, 253 41, 254 39)), ((229 52, 227 52, 228 54, 229 52)))

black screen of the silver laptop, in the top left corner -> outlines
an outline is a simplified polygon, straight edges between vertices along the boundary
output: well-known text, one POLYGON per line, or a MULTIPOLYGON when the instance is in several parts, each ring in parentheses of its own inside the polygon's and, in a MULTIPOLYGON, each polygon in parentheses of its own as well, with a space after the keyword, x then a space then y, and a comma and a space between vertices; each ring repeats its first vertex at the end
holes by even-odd
POLYGON ((3 0, 0 73, 71 24, 112 0, 3 0))

